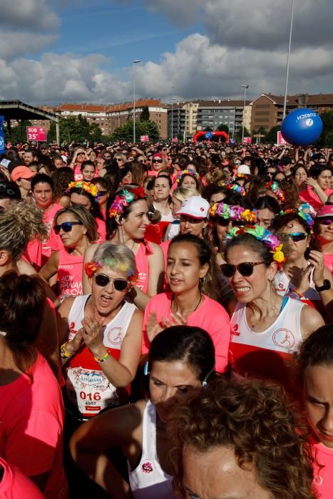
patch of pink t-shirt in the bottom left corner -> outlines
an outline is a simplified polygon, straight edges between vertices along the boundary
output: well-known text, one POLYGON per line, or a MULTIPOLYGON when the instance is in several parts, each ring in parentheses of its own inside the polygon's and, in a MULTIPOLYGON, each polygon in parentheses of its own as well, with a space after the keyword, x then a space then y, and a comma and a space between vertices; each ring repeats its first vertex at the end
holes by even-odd
POLYGON ((0 458, 4 475, 0 480, 0 499, 43 499, 45 495, 24 475, 19 468, 0 458))

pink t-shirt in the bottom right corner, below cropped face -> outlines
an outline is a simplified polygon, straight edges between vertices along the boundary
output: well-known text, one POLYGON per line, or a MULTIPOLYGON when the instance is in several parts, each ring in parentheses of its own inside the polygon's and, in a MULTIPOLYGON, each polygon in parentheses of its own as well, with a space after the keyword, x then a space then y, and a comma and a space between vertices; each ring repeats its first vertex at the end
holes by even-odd
POLYGON ((310 438, 312 456, 317 461, 314 463, 313 485, 318 498, 333 498, 333 449, 325 447, 322 443, 310 438))

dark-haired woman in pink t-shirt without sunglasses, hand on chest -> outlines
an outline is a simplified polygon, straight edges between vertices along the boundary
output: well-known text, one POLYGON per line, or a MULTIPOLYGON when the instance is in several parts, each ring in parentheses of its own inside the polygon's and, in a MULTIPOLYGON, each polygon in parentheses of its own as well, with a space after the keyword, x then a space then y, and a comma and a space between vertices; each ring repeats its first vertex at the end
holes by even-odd
POLYGON ((214 299, 215 262, 205 240, 192 234, 178 235, 170 241, 166 269, 171 292, 152 297, 143 319, 143 354, 165 327, 176 324, 197 326, 210 334, 215 346, 215 369, 227 369, 230 319, 214 299))

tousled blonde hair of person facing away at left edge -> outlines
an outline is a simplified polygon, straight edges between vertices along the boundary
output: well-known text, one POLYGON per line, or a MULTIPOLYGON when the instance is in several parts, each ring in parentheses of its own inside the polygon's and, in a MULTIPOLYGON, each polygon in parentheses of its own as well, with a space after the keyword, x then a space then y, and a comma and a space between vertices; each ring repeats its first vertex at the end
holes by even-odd
POLYGON ((36 205, 18 202, 0 212, 0 249, 6 249, 15 262, 29 240, 43 240, 47 236, 43 213, 36 205))

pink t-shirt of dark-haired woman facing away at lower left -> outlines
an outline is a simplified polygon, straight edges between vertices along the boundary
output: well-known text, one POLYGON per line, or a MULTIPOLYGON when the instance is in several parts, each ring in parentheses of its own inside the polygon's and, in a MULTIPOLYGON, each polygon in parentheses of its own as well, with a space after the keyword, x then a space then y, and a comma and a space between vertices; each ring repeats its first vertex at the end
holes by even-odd
POLYGON ((49 472, 43 494, 47 499, 65 499, 61 389, 41 354, 32 376, 32 383, 22 374, 0 386, 0 455, 27 476, 49 472))

